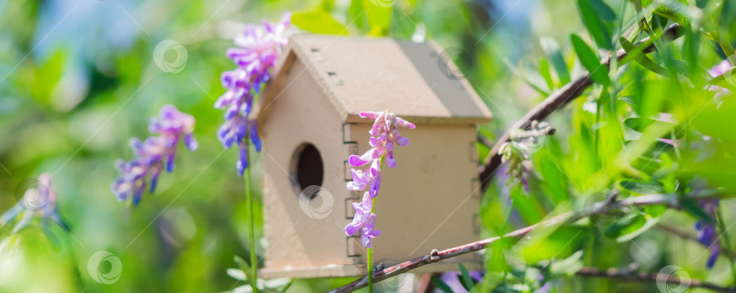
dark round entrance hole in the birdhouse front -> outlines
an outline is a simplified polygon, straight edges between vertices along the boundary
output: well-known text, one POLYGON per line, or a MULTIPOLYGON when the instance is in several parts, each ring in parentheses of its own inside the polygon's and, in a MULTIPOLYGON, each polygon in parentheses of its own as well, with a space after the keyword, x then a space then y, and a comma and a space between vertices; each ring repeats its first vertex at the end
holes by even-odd
MULTIPOLYGON (((312 143, 305 142, 296 148, 296 151, 293 152, 291 167, 292 183, 297 196, 307 187, 322 186, 324 179, 322 156, 312 143)), ((315 195, 312 194, 312 198, 315 195)))

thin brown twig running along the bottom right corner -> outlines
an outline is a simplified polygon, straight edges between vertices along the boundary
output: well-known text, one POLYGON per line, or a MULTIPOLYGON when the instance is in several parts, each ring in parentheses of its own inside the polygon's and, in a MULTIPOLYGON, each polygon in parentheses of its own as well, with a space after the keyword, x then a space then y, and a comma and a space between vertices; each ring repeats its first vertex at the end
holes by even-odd
POLYGON ((607 269, 601 270, 597 268, 582 268, 575 273, 578 277, 588 278, 613 278, 621 282, 636 283, 659 283, 666 282, 669 284, 677 284, 687 286, 688 288, 708 288, 717 292, 736 292, 736 288, 724 288, 711 283, 705 283, 695 278, 677 278, 672 275, 647 273, 642 271, 631 271, 628 269, 607 269))

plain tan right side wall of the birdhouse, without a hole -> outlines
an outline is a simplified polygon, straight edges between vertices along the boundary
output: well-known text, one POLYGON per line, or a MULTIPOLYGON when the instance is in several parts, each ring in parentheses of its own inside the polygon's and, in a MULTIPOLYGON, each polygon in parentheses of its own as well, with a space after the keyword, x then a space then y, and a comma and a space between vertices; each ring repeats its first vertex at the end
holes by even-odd
MULTIPOLYGON (((350 125, 351 139, 358 145, 356 153, 368 151, 372 124, 350 125)), ((396 168, 383 164, 381 190, 374 206, 375 227, 382 234, 373 240, 373 260, 389 265, 423 256, 432 249, 476 241, 480 229, 475 125, 418 124, 416 129, 401 130, 401 134, 411 143, 394 148, 396 168)), ((360 200, 362 195, 353 192, 351 201, 360 200)), ((348 211, 347 218, 352 218, 353 211, 348 211)), ((365 263, 365 249, 359 237, 353 239, 355 254, 365 263)), ((468 254, 420 269, 457 270, 457 261, 468 268, 480 268, 477 260, 468 254)))

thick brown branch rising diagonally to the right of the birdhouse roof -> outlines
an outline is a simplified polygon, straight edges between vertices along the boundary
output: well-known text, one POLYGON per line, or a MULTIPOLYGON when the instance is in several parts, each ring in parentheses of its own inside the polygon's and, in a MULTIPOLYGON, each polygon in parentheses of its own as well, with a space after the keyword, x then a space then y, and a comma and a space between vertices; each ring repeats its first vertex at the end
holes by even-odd
MULTIPOLYGON (((672 24, 664 31, 664 38, 667 40, 674 40, 679 38, 683 33, 683 28, 679 24, 672 24)), ((642 53, 653 52, 656 48, 654 42, 650 38, 642 40, 637 46, 644 46, 642 53)), ((622 61, 628 54, 620 50, 616 53, 616 60, 622 61)), ((602 61, 601 66, 608 70, 611 65, 611 58, 606 58, 602 61)), ((567 103, 570 103, 575 98, 579 97, 582 92, 585 91, 589 86, 592 85, 592 79, 590 73, 584 73, 578 79, 565 84, 560 90, 552 93, 547 99, 542 101, 536 107, 532 108, 531 111, 527 112, 522 119, 515 122, 512 127, 504 132, 498 139, 493 149, 488 154, 488 158, 484 160, 484 165, 480 168, 480 180, 481 180, 481 194, 488 188, 488 183, 491 181, 493 173, 501 165, 501 155, 498 154, 498 150, 503 142, 508 142, 511 139, 511 132, 515 129, 522 129, 529 125, 532 121, 542 121, 547 118, 552 112, 562 108, 567 103)))

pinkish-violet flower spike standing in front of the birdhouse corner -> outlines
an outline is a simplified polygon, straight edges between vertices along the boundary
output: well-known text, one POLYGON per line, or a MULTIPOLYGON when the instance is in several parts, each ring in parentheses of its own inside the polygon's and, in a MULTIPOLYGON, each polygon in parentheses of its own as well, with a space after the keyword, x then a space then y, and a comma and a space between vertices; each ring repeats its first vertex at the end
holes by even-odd
POLYGON ((413 123, 407 122, 393 112, 361 112, 361 117, 374 119, 373 128, 368 133, 371 134, 371 150, 366 151, 361 156, 352 155, 348 158, 348 162, 353 167, 360 167, 371 164, 365 171, 352 169, 353 181, 347 183, 347 189, 353 191, 365 190, 363 200, 360 203, 353 202, 355 216, 353 222, 345 226, 345 234, 354 235, 358 231, 361 232, 361 242, 363 247, 373 248, 373 239, 381 234, 380 230, 375 229, 375 214, 373 214, 373 199, 378 195, 381 188, 381 168, 383 161, 390 168, 396 168, 396 160, 393 158, 393 143, 400 146, 409 145, 409 140, 399 134, 399 126, 408 129, 414 129, 413 123))

